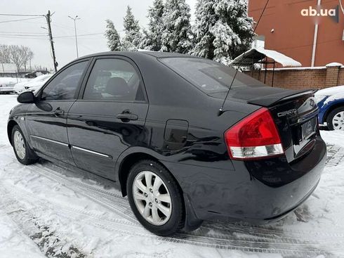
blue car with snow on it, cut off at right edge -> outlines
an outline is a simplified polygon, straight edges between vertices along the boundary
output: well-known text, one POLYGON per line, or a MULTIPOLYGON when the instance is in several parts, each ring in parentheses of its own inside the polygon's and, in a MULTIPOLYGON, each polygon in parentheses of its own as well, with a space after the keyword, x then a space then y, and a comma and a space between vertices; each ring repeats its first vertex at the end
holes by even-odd
POLYGON ((319 124, 329 130, 344 131, 344 86, 322 89, 315 93, 319 107, 319 124))

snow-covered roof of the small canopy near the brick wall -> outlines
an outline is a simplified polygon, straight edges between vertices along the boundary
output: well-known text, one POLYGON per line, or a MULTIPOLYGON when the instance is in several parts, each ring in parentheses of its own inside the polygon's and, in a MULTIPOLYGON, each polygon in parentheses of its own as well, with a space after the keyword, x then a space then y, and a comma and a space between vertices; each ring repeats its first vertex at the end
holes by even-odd
POLYGON ((267 58, 271 58, 277 63, 280 63, 283 67, 300 67, 302 66, 300 62, 286 56, 282 53, 279 53, 274 50, 268 50, 263 48, 253 48, 245 53, 242 53, 240 56, 235 58, 231 65, 251 65, 252 60, 254 63, 263 60, 267 56, 267 58))

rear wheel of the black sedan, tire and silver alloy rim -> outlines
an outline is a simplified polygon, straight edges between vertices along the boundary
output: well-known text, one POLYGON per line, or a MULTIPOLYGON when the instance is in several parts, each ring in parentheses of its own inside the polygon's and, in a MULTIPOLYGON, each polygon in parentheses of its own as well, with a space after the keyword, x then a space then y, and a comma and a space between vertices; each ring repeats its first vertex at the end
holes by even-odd
POLYGON ((148 231, 158 236, 171 236, 183 227, 183 195, 176 179, 161 164, 141 160, 133 165, 126 189, 135 217, 148 231), (147 183, 149 181, 151 183, 147 183))

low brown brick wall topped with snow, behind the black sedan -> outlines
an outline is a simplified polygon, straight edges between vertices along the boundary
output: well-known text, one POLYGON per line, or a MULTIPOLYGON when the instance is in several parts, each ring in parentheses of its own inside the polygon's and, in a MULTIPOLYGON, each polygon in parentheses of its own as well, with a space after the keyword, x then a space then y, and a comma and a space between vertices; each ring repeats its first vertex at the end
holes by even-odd
MULTIPOLYGON (((246 72, 264 82, 265 71, 246 72)), ((272 85, 272 70, 267 70, 265 84, 272 85)), ((344 85, 344 67, 285 68, 274 71, 274 86, 286 89, 323 89, 344 85)))

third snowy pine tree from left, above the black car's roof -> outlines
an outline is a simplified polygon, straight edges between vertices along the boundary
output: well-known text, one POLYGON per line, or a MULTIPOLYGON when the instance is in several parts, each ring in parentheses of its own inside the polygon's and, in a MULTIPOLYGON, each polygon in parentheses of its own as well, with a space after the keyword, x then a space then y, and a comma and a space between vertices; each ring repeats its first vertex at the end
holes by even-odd
POLYGON ((154 0, 153 6, 148 9, 147 18, 149 19, 148 31, 144 30, 142 49, 160 51, 161 50, 161 34, 164 30, 164 2, 162 0, 154 0))

